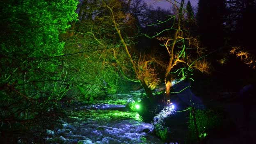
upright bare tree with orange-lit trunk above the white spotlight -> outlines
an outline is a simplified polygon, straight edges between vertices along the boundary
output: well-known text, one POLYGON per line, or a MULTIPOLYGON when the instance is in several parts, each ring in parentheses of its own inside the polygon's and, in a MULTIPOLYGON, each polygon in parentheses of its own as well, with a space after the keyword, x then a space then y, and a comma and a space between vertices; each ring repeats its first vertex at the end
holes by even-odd
MULTIPOLYGON (((175 0, 167 0, 174 5, 174 14, 176 15, 169 18, 169 20, 176 21, 172 27, 169 27, 151 38, 156 38, 162 42, 162 46, 166 49, 169 55, 169 61, 165 69, 165 86, 166 94, 165 101, 169 100, 170 89, 175 84, 174 80, 177 79, 177 73, 182 73, 182 79, 186 78, 185 69, 192 71, 198 69, 201 72, 208 72, 209 64, 203 59, 203 49, 199 47, 197 38, 191 37, 189 32, 185 30, 183 19, 185 10, 183 9, 184 0, 178 3, 175 0), (165 32, 170 34, 166 34, 165 32), (162 35, 162 33, 165 33, 162 35), (190 48, 192 47, 192 48, 190 48), (177 70, 178 69, 178 70, 177 70)), ((167 21, 159 21, 154 25, 160 25, 167 21)))

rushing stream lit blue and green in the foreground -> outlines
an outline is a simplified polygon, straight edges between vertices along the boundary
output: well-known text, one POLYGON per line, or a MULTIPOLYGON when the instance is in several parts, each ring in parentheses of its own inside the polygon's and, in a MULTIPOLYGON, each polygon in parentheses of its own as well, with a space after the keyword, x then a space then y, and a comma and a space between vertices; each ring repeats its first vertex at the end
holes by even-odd
POLYGON ((70 110, 61 125, 47 130, 51 144, 165 144, 152 135, 153 125, 125 105, 87 105, 70 110))

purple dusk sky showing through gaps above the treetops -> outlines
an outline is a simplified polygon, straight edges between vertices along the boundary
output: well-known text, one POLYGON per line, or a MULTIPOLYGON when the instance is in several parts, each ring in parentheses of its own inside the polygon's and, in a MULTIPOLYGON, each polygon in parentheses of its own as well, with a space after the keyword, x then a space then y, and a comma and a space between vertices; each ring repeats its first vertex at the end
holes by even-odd
MULTIPOLYGON (((148 5, 152 5, 153 7, 161 7, 164 9, 169 9, 171 7, 171 4, 169 2, 166 2, 165 0, 144 0, 148 5)), ((180 2, 181 0, 177 0, 180 2)), ((187 5, 187 1, 185 0, 185 5, 187 5)), ((198 0, 190 0, 192 7, 196 8, 198 0)))

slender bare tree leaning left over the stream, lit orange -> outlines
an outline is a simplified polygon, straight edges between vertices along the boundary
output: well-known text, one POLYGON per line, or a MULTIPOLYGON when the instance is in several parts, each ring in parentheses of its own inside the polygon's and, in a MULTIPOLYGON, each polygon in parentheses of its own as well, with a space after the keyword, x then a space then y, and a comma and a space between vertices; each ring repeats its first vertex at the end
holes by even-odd
POLYGON ((95 0, 87 3, 86 6, 81 7, 83 12, 80 17, 82 19, 76 30, 83 37, 88 37, 91 45, 100 48, 105 53, 101 57, 104 59, 104 66, 105 64, 114 66, 127 80, 140 82, 146 89, 146 94, 152 99, 153 95, 148 87, 149 83, 145 82, 144 71, 142 73, 139 71, 144 67, 149 70, 150 61, 145 62, 145 59, 142 62, 142 59, 133 53, 135 44, 133 40, 137 27, 132 25, 133 17, 125 12, 123 5, 128 5, 128 3, 119 0, 95 0))

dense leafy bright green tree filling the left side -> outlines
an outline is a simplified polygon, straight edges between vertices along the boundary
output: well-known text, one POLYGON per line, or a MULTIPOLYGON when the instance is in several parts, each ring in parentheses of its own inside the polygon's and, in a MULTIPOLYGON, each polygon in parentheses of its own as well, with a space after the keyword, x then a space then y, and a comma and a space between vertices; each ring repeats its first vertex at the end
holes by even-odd
POLYGON ((76 0, 1 3, 1 140, 16 143, 13 134, 19 130, 26 134, 21 139, 31 143, 31 135, 41 135, 37 128, 43 130, 53 121, 57 103, 72 88, 67 64, 55 56, 62 55, 59 34, 76 19, 77 4, 76 0))

